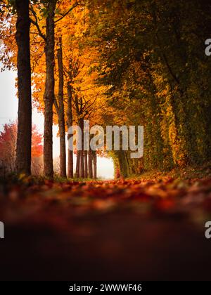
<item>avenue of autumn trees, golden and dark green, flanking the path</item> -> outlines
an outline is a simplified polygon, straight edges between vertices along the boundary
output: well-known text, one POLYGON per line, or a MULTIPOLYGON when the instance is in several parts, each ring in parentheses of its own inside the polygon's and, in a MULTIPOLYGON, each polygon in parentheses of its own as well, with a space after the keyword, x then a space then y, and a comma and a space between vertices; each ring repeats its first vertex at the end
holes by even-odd
POLYGON ((109 152, 120 176, 211 159, 211 4, 202 0, 1 1, 0 61, 18 69, 15 169, 31 173, 32 105, 44 114, 44 175, 96 178, 96 152, 70 151, 72 124, 143 125, 144 155, 109 152), (67 160, 68 159, 68 160, 67 160), (66 165, 68 163, 68 167, 66 165))

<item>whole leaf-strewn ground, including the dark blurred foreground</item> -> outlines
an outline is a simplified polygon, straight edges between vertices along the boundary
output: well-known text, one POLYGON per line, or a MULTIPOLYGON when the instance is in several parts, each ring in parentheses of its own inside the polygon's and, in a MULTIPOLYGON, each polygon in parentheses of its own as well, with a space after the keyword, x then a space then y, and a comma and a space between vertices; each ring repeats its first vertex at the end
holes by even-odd
POLYGON ((1 280, 210 280, 211 178, 1 184, 1 280))

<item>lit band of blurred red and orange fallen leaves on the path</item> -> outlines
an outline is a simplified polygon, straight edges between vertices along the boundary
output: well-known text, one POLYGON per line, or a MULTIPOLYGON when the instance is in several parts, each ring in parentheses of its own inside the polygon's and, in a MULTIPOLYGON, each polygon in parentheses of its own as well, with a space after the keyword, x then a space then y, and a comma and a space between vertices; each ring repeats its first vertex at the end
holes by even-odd
POLYGON ((110 212, 186 218, 200 225, 211 219, 211 179, 59 183, 22 176, 17 183, 1 184, 0 192, 0 216, 7 223, 110 212))

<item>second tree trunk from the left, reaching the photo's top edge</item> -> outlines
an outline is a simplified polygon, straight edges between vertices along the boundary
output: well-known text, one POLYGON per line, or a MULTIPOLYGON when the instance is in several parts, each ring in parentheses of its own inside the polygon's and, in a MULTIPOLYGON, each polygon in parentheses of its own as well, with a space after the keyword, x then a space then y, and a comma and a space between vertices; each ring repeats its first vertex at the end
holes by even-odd
POLYGON ((54 15, 57 0, 48 2, 46 18, 46 88, 44 93, 44 174, 53 178, 54 15))

